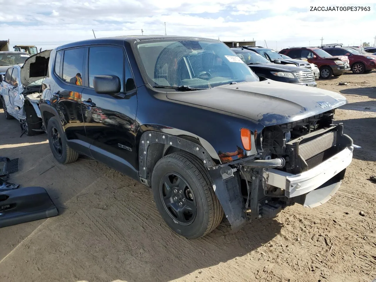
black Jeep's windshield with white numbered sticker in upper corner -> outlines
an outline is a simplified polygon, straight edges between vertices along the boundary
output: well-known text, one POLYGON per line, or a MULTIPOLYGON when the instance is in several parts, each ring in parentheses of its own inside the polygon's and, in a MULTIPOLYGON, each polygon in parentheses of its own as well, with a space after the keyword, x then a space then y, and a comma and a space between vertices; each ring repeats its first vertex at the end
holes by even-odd
POLYGON ((161 40, 141 41, 136 46, 152 86, 212 88, 258 81, 256 74, 221 42, 161 40))

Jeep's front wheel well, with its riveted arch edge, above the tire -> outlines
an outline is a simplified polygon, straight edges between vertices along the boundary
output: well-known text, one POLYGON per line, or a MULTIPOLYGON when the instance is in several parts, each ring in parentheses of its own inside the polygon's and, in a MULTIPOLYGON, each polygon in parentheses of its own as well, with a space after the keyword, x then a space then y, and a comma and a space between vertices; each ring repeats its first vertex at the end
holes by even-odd
POLYGON ((160 132, 144 133, 139 145, 139 176, 141 181, 149 185, 153 169, 159 159, 181 151, 197 156, 208 169, 214 166, 208 152, 202 146, 190 140, 160 132))

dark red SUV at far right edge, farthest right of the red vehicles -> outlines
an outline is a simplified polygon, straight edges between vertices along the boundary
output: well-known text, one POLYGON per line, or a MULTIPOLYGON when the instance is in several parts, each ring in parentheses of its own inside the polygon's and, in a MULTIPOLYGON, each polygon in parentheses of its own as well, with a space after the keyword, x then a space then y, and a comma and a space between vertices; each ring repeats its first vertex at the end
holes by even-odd
POLYGON ((350 68, 353 73, 369 73, 376 68, 376 56, 365 55, 353 48, 342 47, 342 44, 333 44, 332 46, 323 46, 323 50, 332 56, 345 55, 350 60, 350 68))

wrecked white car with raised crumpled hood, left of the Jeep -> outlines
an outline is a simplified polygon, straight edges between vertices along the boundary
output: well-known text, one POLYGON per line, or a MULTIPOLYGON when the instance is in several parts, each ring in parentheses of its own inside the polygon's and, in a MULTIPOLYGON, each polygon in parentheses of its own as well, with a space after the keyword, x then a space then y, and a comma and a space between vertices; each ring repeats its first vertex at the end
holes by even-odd
POLYGON ((45 131, 39 99, 44 90, 43 80, 47 73, 51 50, 45 50, 26 59, 22 65, 13 65, 5 73, 0 84, 0 99, 7 120, 16 118, 26 135, 45 131), (42 67, 38 67, 38 66, 42 67), (30 71, 31 70, 31 71, 30 71))

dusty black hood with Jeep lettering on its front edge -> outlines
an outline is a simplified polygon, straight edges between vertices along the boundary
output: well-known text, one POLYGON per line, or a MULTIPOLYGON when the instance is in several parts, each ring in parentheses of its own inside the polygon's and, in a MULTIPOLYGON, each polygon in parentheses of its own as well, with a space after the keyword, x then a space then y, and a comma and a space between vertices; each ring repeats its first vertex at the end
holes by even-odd
POLYGON ((302 120, 347 103, 336 92, 270 79, 166 95, 170 100, 241 115, 264 126, 302 120))

